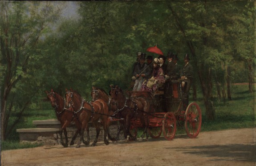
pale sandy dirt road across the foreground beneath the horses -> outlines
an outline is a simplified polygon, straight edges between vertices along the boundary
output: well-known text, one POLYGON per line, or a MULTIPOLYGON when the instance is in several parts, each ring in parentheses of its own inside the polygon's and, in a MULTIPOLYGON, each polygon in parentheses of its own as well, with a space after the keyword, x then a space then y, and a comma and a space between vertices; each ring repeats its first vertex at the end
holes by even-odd
POLYGON ((5 150, 1 166, 256 166, 256 128, 177 135, 95 147, 5 150))

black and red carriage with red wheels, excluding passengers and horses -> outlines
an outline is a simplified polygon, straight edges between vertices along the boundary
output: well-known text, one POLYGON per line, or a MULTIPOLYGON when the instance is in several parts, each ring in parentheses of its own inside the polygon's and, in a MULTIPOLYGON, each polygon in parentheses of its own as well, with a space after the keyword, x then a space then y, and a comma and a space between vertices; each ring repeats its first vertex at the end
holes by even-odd
MULTIPOLYGON (((171 80, 158 85, 157 91, 128 91, 127 96, 132 99, 137 97, 150 98, 154 104, 154 114, 149 115, 148 132, 152 138, 163 136, 167 140, 175 137, 177 124, 185 125, 185 130, 190 138, 196 138, 202 124, 201 109, 197 103, 190 103, 183 109, 181 82, 184 79, 171 80)), ((138 127, 142 127, 139 119, 130 122, 130 132, 136 134, 138 127)))

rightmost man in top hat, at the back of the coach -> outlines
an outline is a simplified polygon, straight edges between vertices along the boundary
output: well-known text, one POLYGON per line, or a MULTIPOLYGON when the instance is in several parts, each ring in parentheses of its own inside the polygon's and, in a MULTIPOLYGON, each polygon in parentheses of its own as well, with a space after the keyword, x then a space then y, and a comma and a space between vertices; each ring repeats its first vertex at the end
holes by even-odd
POLYGON ((193 80, 193 67, 189 63, 189 55, 184 55, 184 66, 181 70, 181 79, 187 80, 182 82, 182 94, 183 94, 183 110, 187 109, 188 106, 188 94, 193 80))

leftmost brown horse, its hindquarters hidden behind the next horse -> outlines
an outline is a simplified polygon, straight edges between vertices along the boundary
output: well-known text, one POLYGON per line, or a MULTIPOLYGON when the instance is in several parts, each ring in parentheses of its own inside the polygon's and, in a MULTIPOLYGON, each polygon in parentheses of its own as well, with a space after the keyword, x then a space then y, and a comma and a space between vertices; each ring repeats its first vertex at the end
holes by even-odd
MULTIPOLYGON (((68 136, 67 136, 66 127, 71 122, 75 122, 75 124, 79 127, 79 125, 77 123, 77 119, 73 118, 73 113, 72 112, 67 111, 65 109, 65 101, 61 97, 61 95, 59 95, 58 93, 53 91, 53 89, 51 89, 50 92, 49 91, 45 91, 45 93, 47 94, 47 99, 50 100, 50 102, 52 104, 52 107, 55 108, 57 119, 61 123, 61 128, 59 130, 59 133, 60 133, 60 136, 61 136, 61 144, 62 144, 62 146, 67 147, 69 140, 68 140, 68 136), (65 135, 65 143, 63 142, 63 139, 62 139, 62 132, 63 132, 63 130, 64 130, 64 135, 65 135)), ((79 128, 77 128, 77 132, 73 136, 73 138, 72 138, 72 140, 70 142, 70 146, 74 144, 74 140, 77 137, 78 133, 79 133, 79 128)))

